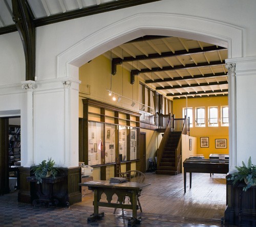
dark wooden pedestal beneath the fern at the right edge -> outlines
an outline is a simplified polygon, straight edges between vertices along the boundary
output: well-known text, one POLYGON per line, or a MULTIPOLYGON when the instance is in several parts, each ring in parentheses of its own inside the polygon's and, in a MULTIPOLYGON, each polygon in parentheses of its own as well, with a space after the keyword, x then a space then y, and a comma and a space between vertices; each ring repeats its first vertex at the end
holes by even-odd
MULTIPOLYGON (((230 178, 227 175, 226 178, 230 178)), ((243 191, 245 183, 233 185, 227 181, 227 208, 225 210, 225 225, 256 226, 256 186, 243 191)))

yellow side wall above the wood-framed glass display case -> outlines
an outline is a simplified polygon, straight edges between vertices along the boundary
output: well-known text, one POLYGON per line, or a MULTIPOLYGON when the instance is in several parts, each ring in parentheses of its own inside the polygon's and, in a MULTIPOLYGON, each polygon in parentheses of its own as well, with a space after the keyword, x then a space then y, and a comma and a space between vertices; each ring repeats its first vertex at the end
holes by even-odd
POLYGON ((109 96, 109 92, 106 89, 110 89, 111 87, 111 63, 110 59, 103 55, 79 67, 79 80, 81 81, 79 85, 79 117, 82 117, 82 99, 86 97, 126 109, 139 111, 138 104, 132 107, 132 100, 124 98, 127 97, 136 101, 138 100, 137 90, 139 80, 135 77, 135 83, 132 85, 130 83, 130 72, 123 68, 122 65, 117 65, 117 73, 112 75, 111 90, 124 97, 121 98, 121 101, 118 103, 114 102, 112 97, 109 96), (90 88, 88 88, 88 86, 90 88), (132 91, 134 93, 133 95, 132 91))

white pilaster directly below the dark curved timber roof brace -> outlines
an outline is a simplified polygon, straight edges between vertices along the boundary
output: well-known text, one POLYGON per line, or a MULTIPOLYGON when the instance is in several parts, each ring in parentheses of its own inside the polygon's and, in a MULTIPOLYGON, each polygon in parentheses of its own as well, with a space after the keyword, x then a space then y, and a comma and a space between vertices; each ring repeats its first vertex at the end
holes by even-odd
POLYGON ((22 116, 26 119, 22 124, 22 149, 27 155, 27 160, 22 160, 24 167, 30 167, 34 165, 34 137, 33 137, 33 93, 35 89, 35 81, 22 82, 22 89, 26 90, 24 95, 24 110, 22 116))

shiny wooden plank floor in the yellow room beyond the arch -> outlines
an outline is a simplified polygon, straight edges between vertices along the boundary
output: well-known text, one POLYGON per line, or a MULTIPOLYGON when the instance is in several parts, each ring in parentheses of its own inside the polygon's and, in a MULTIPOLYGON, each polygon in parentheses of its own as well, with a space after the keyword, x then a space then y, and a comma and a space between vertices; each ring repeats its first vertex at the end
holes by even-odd
MULTIPOLYGON (((184 218, 221 219, 226 207, 225 174, 193 173, 192 188, 184 193, 183 174, 176 176, 146 173, 150 187, 142 190, 143 213, 172 215, 184 218)), ((92 206, 93 193, 79 203, 92 206)), ((102 199, 104 199, 102 195, 102 199)), ((105 209, 105 208, 104 208, 105 209)))

